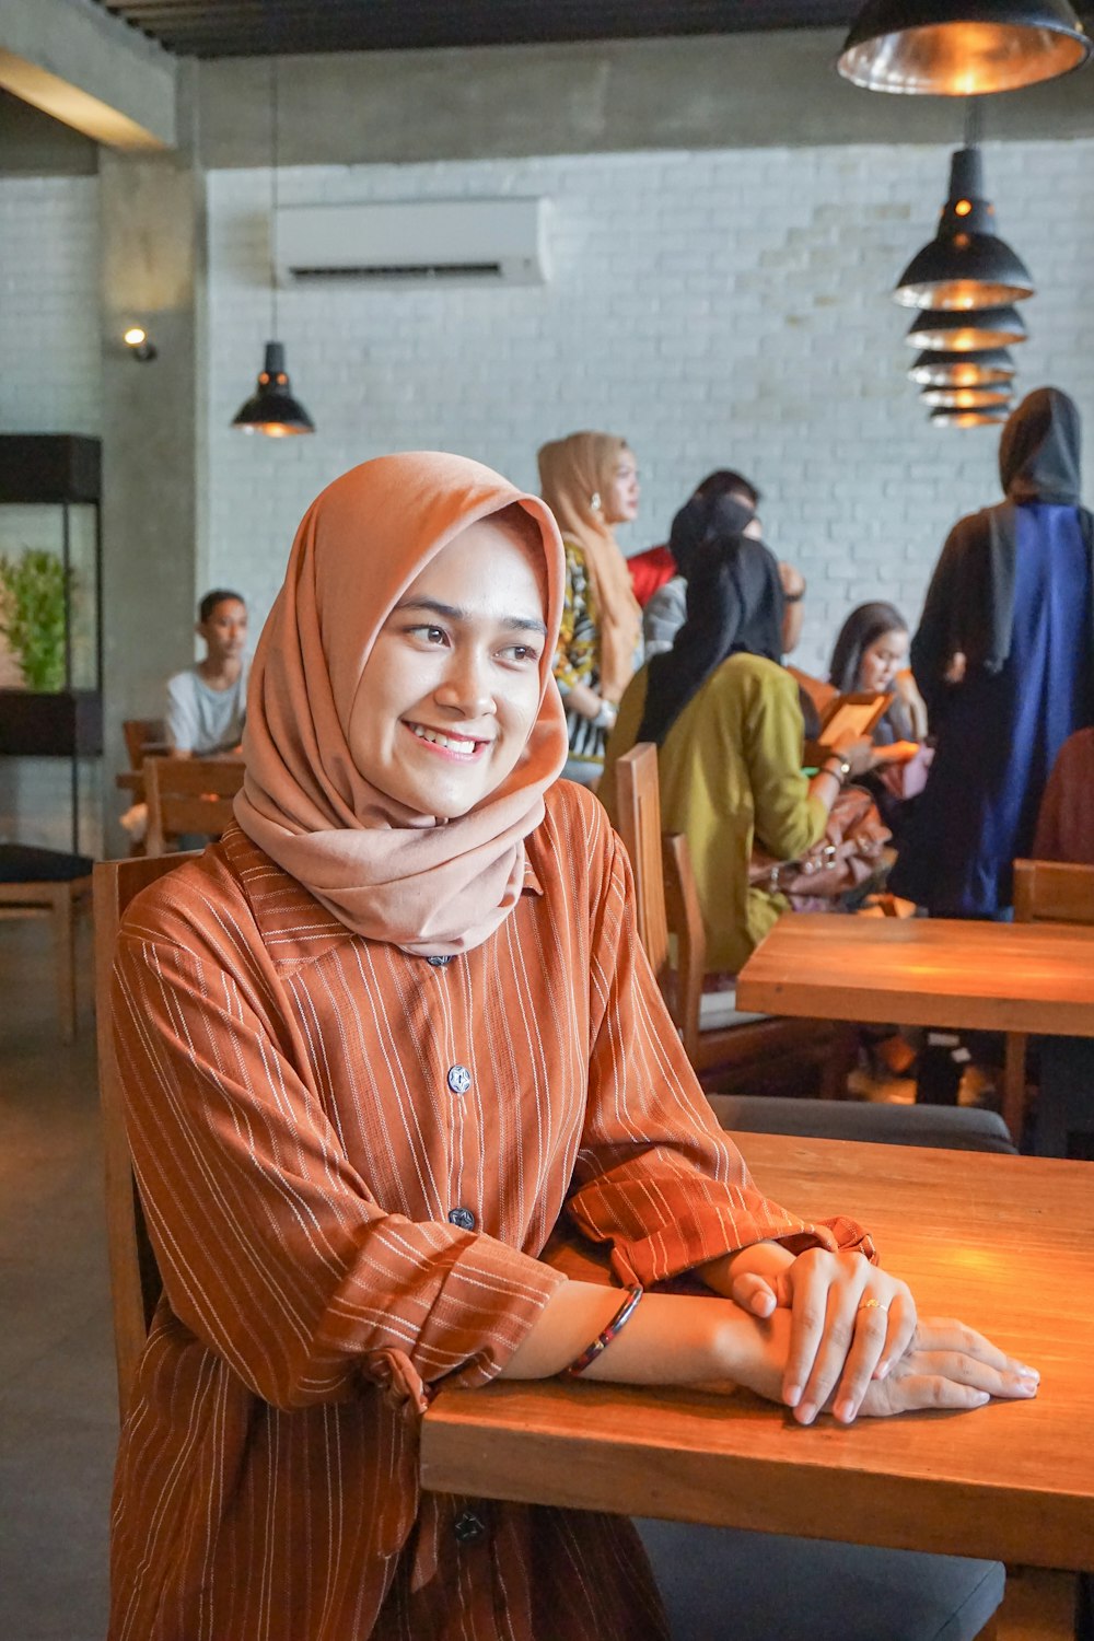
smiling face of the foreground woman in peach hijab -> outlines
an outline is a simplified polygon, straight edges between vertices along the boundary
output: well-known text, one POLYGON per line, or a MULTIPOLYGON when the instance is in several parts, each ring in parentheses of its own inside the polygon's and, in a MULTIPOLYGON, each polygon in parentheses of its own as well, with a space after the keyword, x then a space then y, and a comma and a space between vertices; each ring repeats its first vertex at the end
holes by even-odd
POLYGON ((407 587, 349 719, 358 770, 395 802, 453 820, 513 771, 540 711, 545 599, 533 550, 469 525, 407 587))

